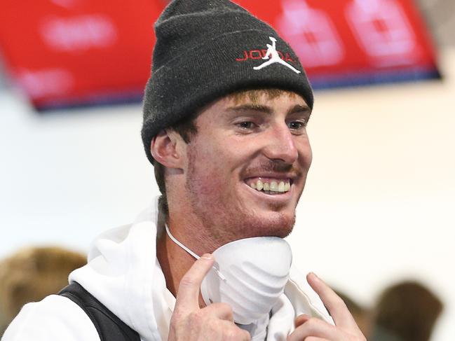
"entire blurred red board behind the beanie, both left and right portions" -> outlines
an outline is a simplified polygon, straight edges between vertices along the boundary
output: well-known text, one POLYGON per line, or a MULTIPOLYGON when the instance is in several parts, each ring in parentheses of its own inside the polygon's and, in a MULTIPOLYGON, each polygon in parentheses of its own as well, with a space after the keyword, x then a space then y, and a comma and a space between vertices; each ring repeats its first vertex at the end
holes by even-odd
MULTIPOLYGON (((290 43, 315 88, 438 77, 411 0, 235 0, 290 43)), ((140 100, 165 0, 4 0, 0 48, 37 109, 140 100)))

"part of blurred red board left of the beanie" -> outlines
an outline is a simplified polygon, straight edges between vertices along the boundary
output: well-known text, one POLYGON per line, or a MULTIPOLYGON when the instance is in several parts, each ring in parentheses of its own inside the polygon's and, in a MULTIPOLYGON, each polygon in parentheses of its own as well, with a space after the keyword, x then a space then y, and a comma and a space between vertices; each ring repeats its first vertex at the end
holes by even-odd
POLYGON ((142 97, 165 2, 2 1, 6 68, 38 109, 142 97))

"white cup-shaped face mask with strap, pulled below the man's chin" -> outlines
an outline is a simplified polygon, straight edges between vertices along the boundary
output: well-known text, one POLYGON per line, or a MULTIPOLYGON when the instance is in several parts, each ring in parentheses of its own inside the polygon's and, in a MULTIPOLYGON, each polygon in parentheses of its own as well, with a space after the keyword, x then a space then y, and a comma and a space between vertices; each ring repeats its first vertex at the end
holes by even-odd
MULTIPOLYGON (((167 225, 165 228, 173 242, 199 258, 171 235, 167 225)), ((215 265, 201 284, 205 304, 229 304, 239 324, 250 324, 269 314, 289 277, 289 244, 279 237, 246 238, 225 244, 212 254, 215 265)))

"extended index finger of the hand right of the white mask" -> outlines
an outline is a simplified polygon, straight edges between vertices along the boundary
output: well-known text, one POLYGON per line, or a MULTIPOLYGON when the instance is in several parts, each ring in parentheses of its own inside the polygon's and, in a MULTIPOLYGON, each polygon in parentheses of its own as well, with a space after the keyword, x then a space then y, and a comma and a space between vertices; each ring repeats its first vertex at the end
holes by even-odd
POLYGON ((335 293, 330 286, 322 281, 318 276, 310 272, 306 275, 306 280, 310 284, 311 288, 318 293, 322 303, 324 303, 327 310, 332 315, 335 325, 340 327, 347 328, 358 328, 357 323, 355 323, 351 312, 349 312, 348 307, 343 300, 335 293))

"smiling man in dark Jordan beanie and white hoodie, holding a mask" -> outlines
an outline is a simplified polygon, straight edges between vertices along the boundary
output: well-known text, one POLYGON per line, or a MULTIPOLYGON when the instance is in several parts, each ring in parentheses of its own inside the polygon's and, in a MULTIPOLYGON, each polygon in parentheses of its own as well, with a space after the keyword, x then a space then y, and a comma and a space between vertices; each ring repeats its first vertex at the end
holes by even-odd
MULTIPOLYGON (((142 139, 163 195, 98 237, 70 281, 141 340, 365 340, 318 277, 308 282, 334 324, 303 278, 288 280, 282 237, 311 165, 313 107, 292 49, 227 0, 173 1, 156 36, 142 139)), ((26 305, 6 341, 18 335, 100 340, 62 296, 26 305)))

